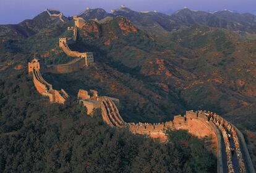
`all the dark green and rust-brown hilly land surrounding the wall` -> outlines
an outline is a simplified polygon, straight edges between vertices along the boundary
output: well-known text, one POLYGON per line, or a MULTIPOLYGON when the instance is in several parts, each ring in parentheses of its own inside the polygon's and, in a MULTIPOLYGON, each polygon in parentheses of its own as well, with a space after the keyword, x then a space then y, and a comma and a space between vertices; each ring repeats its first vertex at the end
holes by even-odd
POLYGON ((118 98, 126 122, 159 123, 186 110, 216 112, 247 136, 255 159, 254 15, 184 9, 169 16, 123 8, 113 14, 87 10, 80 16, 94 20, 86 21, 70 47, 93 52, 95 65, 70 74, 43 74, 70 95, 65 105, 51 104, 36 92, 27 63, 32 58, 47 65, 69 62, 58 42, 70 36, 67 26, 74 21, 61 22, 43 12, 17 25, 0 25, 1 171, 216 171, 202 140, 178 133, 183 141, 159 143, 111 129, 85 115, 76 103, 79 89, 118 98))

